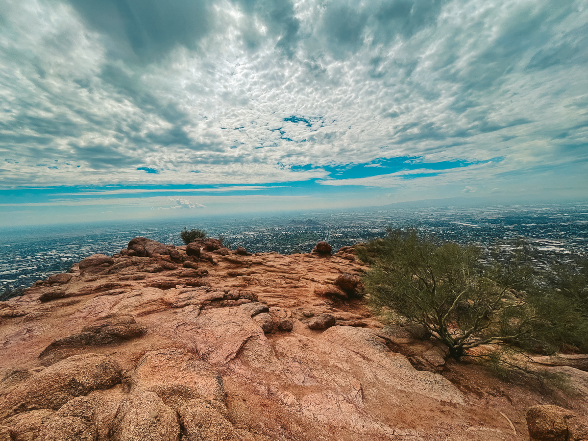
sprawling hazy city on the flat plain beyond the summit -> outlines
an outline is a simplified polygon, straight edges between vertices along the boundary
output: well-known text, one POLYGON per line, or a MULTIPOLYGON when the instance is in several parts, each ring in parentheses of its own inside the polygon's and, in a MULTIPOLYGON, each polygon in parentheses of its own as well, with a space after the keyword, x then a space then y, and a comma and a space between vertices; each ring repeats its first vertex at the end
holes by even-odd
POLYGON ((532 251, 532 265, 549 269, 553 263, 588 258, 588 204, 499 206, 492 208, 379 208, 368 211, 297 212, 272 216, 177 222, 150 221, 78 224, 10 232, 0 240, 0 296, 15 295, 35 280, 66 272, 93 253, 112 255, 133 237, 146 236, 182 245, 179 231, 186 226, 222 235, 231 248, 250 252, 290 254, 310 252, 326 240, 336 251, 342 246, 386 235, 386 228, 415 228, 465 245, 508 253, 523 241, 532 251))

